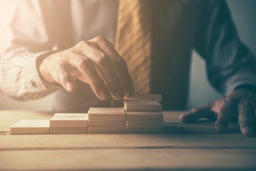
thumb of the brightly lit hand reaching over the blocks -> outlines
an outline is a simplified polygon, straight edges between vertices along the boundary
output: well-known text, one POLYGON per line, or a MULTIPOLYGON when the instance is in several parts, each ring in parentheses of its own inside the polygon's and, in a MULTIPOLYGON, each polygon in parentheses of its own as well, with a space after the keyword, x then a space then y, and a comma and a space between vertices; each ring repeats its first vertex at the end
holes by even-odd
POLYGON ((56 82, 62 85, 68 92, 75 91, 75 82, 70 75, 69 68, 62 62, 59 62, 53 71, 53 78, 56 82))

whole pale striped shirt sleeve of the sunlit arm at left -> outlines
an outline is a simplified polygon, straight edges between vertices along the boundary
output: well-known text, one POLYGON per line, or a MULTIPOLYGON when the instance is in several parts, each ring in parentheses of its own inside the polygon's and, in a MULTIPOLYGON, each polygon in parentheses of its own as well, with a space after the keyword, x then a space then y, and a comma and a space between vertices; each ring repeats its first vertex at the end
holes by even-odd
MULTIPOLYGON (((48 3, 50 5, 50 3, 48 3)), ((37 60, 50 55, 54 46, 47 1, 22 1, 10 23, 11 45, 0 57, 0 90, 20 100, 36 99, 56 90, 45 84, 37 60)))

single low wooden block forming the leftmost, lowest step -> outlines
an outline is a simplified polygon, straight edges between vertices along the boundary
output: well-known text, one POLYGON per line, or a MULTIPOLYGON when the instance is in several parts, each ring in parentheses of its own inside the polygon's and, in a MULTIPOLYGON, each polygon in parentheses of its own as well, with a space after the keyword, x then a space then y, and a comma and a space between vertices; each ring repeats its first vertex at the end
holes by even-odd
POLYGON ((20 120, 10 127, 10 134, 49 134, 49 120, 20 120))

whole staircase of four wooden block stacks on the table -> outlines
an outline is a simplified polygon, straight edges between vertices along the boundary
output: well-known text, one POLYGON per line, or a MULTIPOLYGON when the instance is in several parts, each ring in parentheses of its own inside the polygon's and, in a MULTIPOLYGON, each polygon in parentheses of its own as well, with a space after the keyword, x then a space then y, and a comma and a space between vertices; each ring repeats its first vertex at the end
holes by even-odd
POLYGON ((20 120, 10 134, 162 133, 161 95, 135 94, 124 108, 90 108, 87 113, 56 113, 50 120, 20 120))

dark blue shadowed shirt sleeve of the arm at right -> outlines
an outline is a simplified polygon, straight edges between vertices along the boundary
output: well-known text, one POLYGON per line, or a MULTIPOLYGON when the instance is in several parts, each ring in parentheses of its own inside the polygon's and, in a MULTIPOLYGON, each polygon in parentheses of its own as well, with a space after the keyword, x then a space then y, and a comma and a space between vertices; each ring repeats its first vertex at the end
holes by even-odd
POLYGON ((228 95, 237 87, 256 87, 256 58, 240 40, 226 1, 202 1, 195 50, 206 60, 209 82, 228 95))

